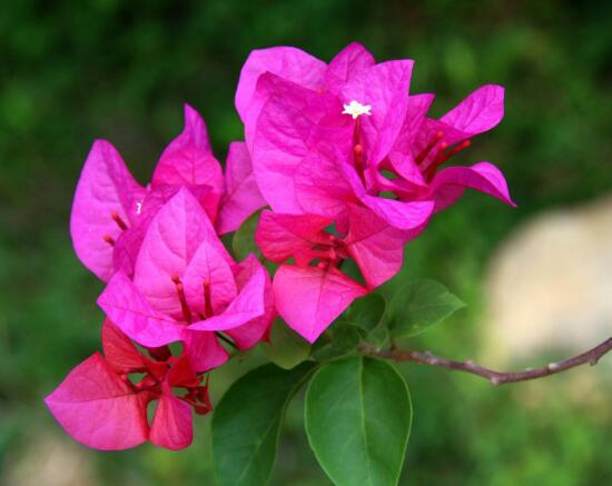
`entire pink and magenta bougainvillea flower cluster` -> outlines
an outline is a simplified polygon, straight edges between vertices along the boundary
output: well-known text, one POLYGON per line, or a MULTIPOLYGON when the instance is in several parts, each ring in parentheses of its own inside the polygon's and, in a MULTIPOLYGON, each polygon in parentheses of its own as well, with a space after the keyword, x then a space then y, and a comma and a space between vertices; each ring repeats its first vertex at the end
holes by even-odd
POLYGON ((229 146, 225 173, 188 106, 146 187, 109 142, 93 143, 70 227, 77 255, 107 282, 105 356, 47 397, 69 434, 100 449, 186 447, 191 408, 211 409, 204 375, 227 346, 266 340, 277 314, 314 343, 401 269, 406 242, 465 188, 513 205, 493 165, 443 168, 501 121, 503 88, 484 86, 434 119, 433 95, 408 95, 412 69, 376 63, 357 43, 328 65, 288 47, 251 52, 236 92, 245 142, 229 146), (219 239, 261 208, 255 240, 279 265, 274 281, 219 239), (348 259, 361 281, 343 271, 348 259))

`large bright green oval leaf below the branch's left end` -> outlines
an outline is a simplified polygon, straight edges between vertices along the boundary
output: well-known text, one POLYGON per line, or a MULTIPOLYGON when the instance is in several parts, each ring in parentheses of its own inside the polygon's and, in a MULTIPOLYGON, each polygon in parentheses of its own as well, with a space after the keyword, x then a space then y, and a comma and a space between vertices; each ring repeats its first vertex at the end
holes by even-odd
POLYGON ((388 363, 332 361, 306 393, 306 432, 317 460, 338 486, 394 486, 412 421, 404 378, 388 363))

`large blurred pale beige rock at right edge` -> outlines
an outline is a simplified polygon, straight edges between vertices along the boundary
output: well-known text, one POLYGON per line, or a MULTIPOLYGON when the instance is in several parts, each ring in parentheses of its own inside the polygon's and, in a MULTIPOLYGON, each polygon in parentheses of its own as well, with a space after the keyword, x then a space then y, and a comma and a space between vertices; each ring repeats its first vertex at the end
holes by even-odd
POLYGON ((486 282, 487 364, 541 365, 612 335, 612 197, 542 214, 510 236, 486 282))

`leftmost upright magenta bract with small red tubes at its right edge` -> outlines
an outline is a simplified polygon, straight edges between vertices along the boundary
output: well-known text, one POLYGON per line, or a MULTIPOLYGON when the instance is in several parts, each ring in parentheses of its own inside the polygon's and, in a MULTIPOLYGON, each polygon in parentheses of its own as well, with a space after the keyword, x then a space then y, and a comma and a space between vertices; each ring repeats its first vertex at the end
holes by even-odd
POLYGON ((124 231, 120 225, 134 225, 144 197, 117 149, 96 140, 75 194, 70 235, 79 259, 105 281, 113 272, 112 241, 124 231))

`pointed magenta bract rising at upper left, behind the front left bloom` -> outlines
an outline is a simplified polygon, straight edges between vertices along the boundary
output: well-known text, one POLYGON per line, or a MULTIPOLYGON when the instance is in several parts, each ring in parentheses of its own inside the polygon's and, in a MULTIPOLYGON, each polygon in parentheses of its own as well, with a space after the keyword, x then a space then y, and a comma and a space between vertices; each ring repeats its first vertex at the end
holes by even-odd
POLYGON ((224 191, 221 167, 210 150, 206 125, 189 105, 185 105, 182 132, 166 147, 155 169, 152 186, 160 184, 209 186, 217 198, 224 191))

